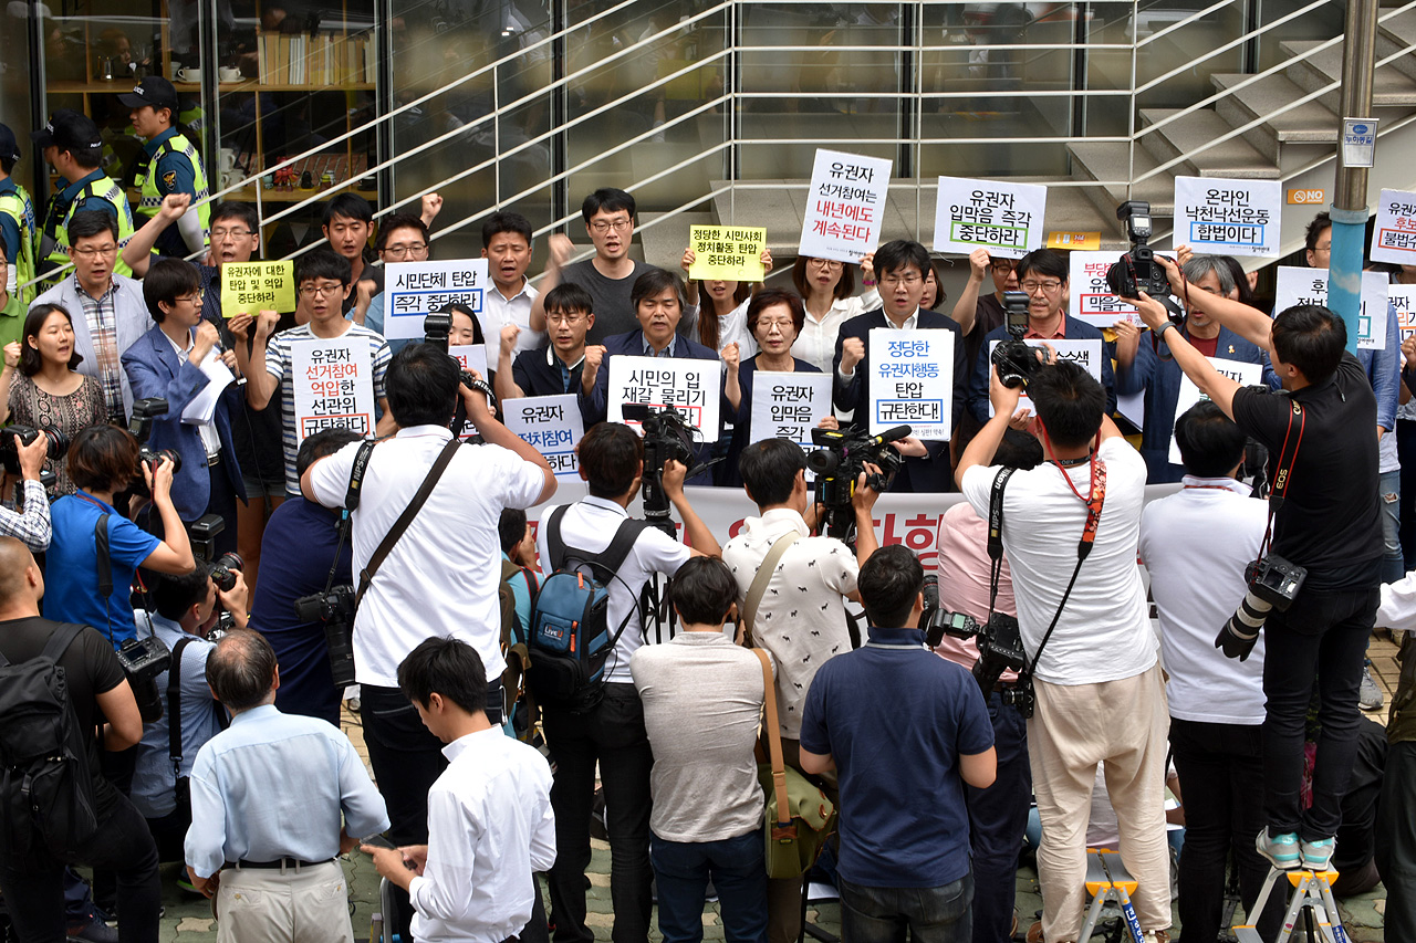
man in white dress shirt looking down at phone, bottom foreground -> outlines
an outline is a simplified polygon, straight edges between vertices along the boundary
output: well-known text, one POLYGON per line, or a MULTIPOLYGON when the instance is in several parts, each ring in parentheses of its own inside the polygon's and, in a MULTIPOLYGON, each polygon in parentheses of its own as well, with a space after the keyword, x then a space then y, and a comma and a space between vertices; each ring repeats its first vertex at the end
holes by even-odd
POLYGON ((408 892, 418 943, 501 943, 539 912, 534 872, 555 861, 551 767, 487 716, 487 673, 457 639, 425 639, 398 665, 399 690, 446 743, 428 793, 428 844, 362 845, 408 892))

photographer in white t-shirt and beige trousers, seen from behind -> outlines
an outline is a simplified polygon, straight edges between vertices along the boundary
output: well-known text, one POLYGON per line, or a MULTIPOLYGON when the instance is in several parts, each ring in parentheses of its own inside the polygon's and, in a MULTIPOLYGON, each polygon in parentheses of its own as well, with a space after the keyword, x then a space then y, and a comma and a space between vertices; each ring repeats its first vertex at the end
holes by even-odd
MULTIPOLYGON (((1022 278, 1037 275, 1027 269, 1022 278)), ((1003 547, 1037 699, 1028 758, 1042 818, 1044 937, 1075 940, 1082 929, 1089 800, 1104 760, 1121 859, 1140 882, 1133 901, 1148 942, 1170 926, 1170 857, 1168 718, 1136 566, 1146 463, 1106 416, 1102 384, 1045 353, 1027 388, 1046 463, 1007 479, 1004 469, 988 467, 1022 392, 990 368, 994 415, 964 449, 959 484, 987 517, 995 483, 1005 483, 1003 547)))

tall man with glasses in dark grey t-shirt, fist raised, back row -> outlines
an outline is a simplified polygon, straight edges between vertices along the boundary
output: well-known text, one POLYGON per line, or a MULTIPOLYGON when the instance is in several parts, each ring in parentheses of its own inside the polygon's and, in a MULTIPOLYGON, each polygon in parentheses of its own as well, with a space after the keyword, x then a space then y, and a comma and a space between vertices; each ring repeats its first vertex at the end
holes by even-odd
MULTIPOLYGON (((650 268, 629 258, 634 238, 634 197, 623 190, 602 187, 581 205, 585 231, 595 244, 595 255, 575 265, 566 265, 575 246, 571 239, 551 236, 551 258, 545 266, 541 290, 549 292, 562 282, 573 282, 590 293, 595 302, 595 327, 589 333, 592 344, 603 344, 612 334, 627 334, 639 327, 630 295, 634 282, 650 268)), ((531 330, 545 330, 545 295, 531 304, 531 330)))

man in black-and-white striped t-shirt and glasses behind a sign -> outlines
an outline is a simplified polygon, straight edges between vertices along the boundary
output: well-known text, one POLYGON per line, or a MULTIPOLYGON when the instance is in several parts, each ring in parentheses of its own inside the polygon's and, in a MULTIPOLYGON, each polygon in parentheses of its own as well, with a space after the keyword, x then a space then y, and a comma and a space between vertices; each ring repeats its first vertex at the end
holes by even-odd
MULTIPOLYGON (((319 341, 346 338, 354 347, 355 355, 361 355, 367 347, 368 362, 372 367, 374 401, 378 404, 382 418, 378 422, 378 435, 394 432, 394 418, 388 412, 388 401, 384 396, 384 372, 388 370, 391 354, 384 337, 367 327, 344 320, 341 303, 351 287, 351 273, 348 259, 343 259, 330 249, 314 249, 302 255, 295 262, 295 283, 299 292, 295 320, 299 327, 280 331, 270 337, 270 330, 279 320, 275 312, 261 312, 259 317, 238 314, 231 319, 231 333, 236 336, 236 365, 246 377, 246 402, 255 409, 265 409, 266 404, 280 391, 282 412, 282 446, 285 447, 285 487, 289 494, 300 493, 300 480, 295 473, 295 456, 300 447, 296 429, 296 401, 293 353, 300 341, 319 341), (246 345, 246 338, 255 337, 252 345, 246 345), (269 338, 269 345, 268 345, 269 338)), ((370 432, 370 429, 355 428, 355 432, 370 432)))

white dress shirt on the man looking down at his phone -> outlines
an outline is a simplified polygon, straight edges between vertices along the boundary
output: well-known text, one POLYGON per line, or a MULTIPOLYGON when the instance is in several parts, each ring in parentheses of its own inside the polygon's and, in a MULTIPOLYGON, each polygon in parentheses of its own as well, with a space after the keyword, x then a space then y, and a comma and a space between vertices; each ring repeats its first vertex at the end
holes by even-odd
POLYGON ((537 871, 555 864, 551 767, 493 726, 443 748, 428 791, 428 862, 408 886, 418 943, 501 943, 531 919, 537 871))

